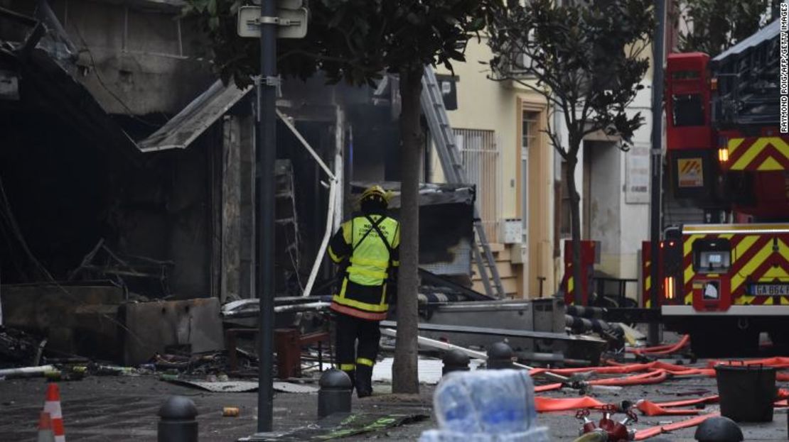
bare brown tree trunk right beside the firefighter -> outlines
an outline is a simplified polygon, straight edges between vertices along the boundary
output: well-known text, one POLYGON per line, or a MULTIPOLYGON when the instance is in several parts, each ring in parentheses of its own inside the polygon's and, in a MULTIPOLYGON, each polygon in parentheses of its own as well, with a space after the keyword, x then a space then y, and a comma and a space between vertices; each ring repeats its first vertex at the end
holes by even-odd
POLYGON ((398 273, 397 343, 392 365, 392 392, 419 393, 417 373, 417 289, 419 280, 419 181, 422 143, 419 124, 422 66, 400 72, 400 269, 398 273))

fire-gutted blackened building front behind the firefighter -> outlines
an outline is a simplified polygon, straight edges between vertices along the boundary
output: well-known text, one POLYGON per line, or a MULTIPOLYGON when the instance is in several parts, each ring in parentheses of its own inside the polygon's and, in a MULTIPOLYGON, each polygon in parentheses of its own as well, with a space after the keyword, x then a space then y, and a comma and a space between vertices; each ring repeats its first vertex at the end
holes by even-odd
MULTIPOLYGON (((129 327, 129 302, 256 296, 255 94, 215 80, 181 6, 0 2, 0 301, 52 348, 90 347, 92 317, 129 327)), ((277 295, 330 293, 319 252, 351 183, 399 180, 397 88, 325 83, 279 91, 277 295)), ((157 350, 185 344, 179 321, 157 350)))

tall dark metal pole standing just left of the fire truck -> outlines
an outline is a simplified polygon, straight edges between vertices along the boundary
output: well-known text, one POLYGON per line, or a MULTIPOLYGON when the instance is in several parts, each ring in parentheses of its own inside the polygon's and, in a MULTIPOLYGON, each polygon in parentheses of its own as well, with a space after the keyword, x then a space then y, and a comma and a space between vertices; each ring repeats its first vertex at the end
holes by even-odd
MULTIPOLYGON (((649 251, 650 261, 649 278, 649 306, 653 309, 660 308, 658 303, 658 288, 660 288, 660 177, 663 165, 663 61, 664 38, 666 27, 666 0, 656 0, 657 28, 653 37, 653 79, 652 79, 652 154, 649 156, 650 169, 650 201, 649 201, 649 251)), ((658 343, 659 324, 649 323, 649 343, 658 343)))

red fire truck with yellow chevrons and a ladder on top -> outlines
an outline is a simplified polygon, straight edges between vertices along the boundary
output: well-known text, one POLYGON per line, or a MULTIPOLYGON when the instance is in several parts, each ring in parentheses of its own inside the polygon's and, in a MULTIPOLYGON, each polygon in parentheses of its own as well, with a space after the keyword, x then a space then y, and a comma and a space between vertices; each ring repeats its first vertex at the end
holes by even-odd
MULTIPOLYGON (((667 58, 667 191, 703 209, 705 224, 664 231, 660 312, 667 329, 690 334, 701 356, 755 352, 761 332, 789 350, 789 135, 785 126, 781 132, 779 45, 776 20, 715 58, 667 58)), ((645 242, 645 307, 650 258, 645 242)))

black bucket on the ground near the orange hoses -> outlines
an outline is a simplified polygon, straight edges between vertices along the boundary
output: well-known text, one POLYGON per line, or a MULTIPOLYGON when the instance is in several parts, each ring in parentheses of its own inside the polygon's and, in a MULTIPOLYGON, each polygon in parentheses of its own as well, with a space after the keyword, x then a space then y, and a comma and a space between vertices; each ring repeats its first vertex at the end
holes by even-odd
POLYGON ((729 362, 715 366, 720 414, 735 422, 772 422, 776 369, 729 362))

